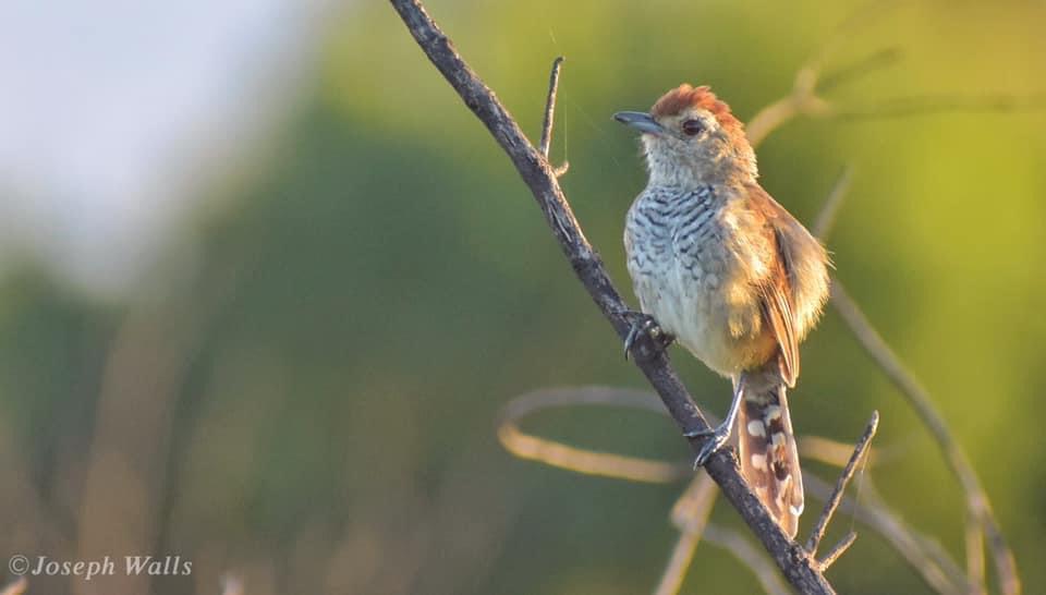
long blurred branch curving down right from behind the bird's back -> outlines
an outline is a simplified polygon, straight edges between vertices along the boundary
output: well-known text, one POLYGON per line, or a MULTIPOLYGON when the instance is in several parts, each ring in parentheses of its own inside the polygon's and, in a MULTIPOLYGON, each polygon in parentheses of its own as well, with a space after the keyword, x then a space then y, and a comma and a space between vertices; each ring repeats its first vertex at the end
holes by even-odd
POLYGON ((836 307, 836 312, 842 316, 847 326, 850 327, 851 332, 865 353, 878 364, 884 374, 893 382, 893 386, 900 390, 940 447, 945 461, 962 486, 969 513, 977 519, 984 527, 988 547, 995 560, 999 588, 1006 595, 1020 593, 1021 581, 1017 572, 1017 561, 1013 559, 1013 551, 1007 545, 998 521, 995 519, 988 496, 981 486, 981 481, 973 471, 973 465, 970 464, 966 453, 952 437, 944 417, 934 406, 929 393, 904 367, 838 279, 832 279, 831 303, 836 307))

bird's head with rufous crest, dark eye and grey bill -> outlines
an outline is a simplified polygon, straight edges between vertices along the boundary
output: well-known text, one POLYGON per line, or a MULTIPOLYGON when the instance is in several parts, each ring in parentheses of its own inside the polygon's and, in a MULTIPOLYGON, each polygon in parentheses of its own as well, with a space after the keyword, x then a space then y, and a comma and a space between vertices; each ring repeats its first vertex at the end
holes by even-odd
POLYGON ((758 174, 744 126, 708 87, 683 84, 661 96, 649 113, 619 111, 613 118, 643 133, 652 183, 688 186, 758 174))

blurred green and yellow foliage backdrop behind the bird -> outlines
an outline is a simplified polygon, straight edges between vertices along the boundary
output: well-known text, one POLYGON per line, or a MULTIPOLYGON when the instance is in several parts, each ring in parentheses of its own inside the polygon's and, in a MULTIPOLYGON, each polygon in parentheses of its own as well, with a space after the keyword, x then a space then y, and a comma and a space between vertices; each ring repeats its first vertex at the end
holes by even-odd
MULTIPOLYGON (((549 64, 567 57, 552 153, 630 300, 622 221, 645 178, 613 111, 691 82, 749 119, 861 10, 828 69, 888 48, 901 60, 834 92, 840 107, 1046 92, 1042 3, 426 4, 532 138, 549 64)), ((268 132, 191 184, 191 214, 131 289, 98 296, 32 254, 5 258, 0 554, 193 561, 188 576, 151 581, 31 578, 29 593, 219 593, 222 576, 251 595, 649 592, 682 486, 521 461, 495 436, 515 394, 642 377, 392 9, 323 14, 306 74, 270 89, 290 99, 268 132)), ((764 186, 807 222, 853 166, 828 240, 838 276, 970 453, 1026 592, 1046 592, 1046 112, 799 119, 758 155, 764 186)), ((728 382, 682 351, 673 361, 702 404, 725 410, 728 382)), ((843 441, 879 410, 891 457, 869 471, 876 485, 963 559, 956 482, 835 314, 805 343, 791 401, 798 433, 843 441)), ((526 428, 689 457, 645 413, 550 412, 526 428)), ((713 518, 739 526, 722 502, 713 518)), ((851 524, 840 517, 831 535, 851 524)), ((840 592, 929 592, 858 531, 829 573, 840 592)), ((702 545, 683 593, 757 590, 702 545)))

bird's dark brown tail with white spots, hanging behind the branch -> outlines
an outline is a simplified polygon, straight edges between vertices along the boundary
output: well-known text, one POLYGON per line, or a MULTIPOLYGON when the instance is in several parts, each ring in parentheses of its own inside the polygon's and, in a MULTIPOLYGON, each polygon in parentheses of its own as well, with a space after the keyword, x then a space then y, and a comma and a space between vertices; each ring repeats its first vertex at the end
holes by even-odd
POLYGON ((794 537, 803 513, 803 475, 784 390, 775 365, 744 373, 738 452, 744 478, 784 533, 794 537))

